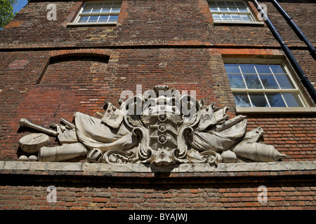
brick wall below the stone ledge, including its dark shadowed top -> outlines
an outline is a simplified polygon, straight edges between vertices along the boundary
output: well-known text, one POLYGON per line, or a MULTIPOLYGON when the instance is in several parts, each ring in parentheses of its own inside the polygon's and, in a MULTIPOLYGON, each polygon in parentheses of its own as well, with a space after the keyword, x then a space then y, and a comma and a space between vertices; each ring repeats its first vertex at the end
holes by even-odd
POLYGON ((52 171, 37 174, 35 178, 25 175, 30 174, 28 172, 16 174, 1 175, 6 178, 6 185, 0 185, 1 210, 316 208, 315 181, 310 179, 315 173, 310 172, 250 175, 119 173, 116 178, 93 173, 61 177, 52 171), (56 202, 47 200, 48 186, 55 186, 56 202), (266 188, 266 202, 260 201, 264 200, 263 187, 266 188))

